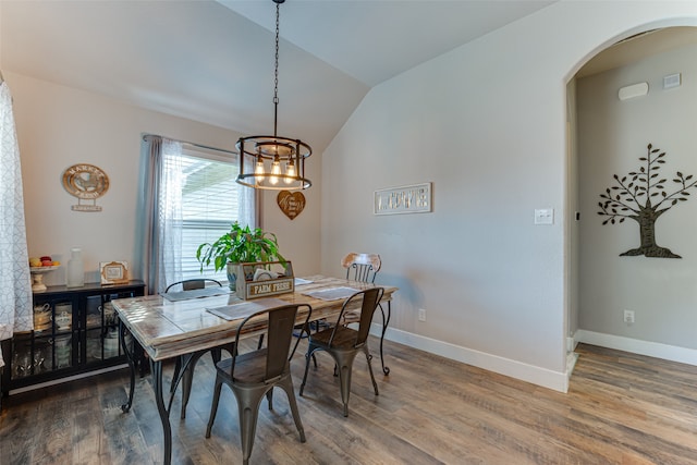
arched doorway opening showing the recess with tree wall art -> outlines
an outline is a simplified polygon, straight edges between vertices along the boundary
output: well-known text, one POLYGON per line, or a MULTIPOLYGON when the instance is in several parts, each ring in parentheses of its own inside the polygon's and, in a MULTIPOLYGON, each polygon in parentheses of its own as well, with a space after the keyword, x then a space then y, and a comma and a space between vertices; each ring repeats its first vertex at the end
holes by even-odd
POLYGON ((612 197, 622 192, 613 175, 620 183, 628 176, 628 185, 629 173, 647 169, 649 160, 641 159, 648 144, 667 154, 656 171, 656 181, 667 182, 649 195, 670 196, 678 172, 697 175, 697 83, 692 77, 697 66, 692 63, 697 63, 697 27, 647 28, 599 52, 568 84, 567 310, 575 342, 697 362, 687 329, 697 322, 692 291, 697 242, 689 237, 697 227, 697 200, 683 196, 671 218, 657 224, 662 241, 682 250, 680 259, 620 257, 639 242, 638 225, 598 215, 606 189, 612 197), (621 88, 643 83, 646 94, 620 95, 621 88), (633 322, 625 321, 625 310, 633 322))

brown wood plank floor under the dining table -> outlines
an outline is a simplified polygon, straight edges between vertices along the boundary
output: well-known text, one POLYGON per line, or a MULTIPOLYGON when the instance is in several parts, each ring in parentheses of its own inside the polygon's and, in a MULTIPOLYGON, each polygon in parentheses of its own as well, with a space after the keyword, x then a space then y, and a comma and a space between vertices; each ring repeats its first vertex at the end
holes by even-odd
MULTIPOLYGON (((377 341, 371 340, 372 347, 377 341)), ((295 391, 304 369, 293 360, 295 391)), ((375 351, 374 351, 375 352, 375 351)), ((297 397, 260 408, 253 464, 697 464, 697 367, 580 345, 567 394, 386 342, 391 374, 354 366, 347 418, 327 354, 297 397)), ((168 370, 171 374, 171 367, 168 370)), ((162 432, 149 378, 127 414, 125 370, 13 395, 0 416, 1 464, 159 463, 162 432)), ((196 369, 186 419, 172 414, 174 464, 240 463, 236 403, 223 388, 205 439, 213 370, 196 369)))

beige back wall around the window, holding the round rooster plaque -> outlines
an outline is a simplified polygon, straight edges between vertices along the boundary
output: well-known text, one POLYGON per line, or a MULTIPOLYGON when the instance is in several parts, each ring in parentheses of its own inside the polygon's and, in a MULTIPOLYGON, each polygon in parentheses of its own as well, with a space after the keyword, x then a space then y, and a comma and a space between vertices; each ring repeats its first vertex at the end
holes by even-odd
MULTIPOLYGON (((70 248, 80 246, 86 282, 99 282, 98 264, 109 260, 129 261, 135 268, 133 277, 142 279, 134 215, 140 135, 234 149, 240 134, 7 71, 3 75, 13 96, 29 255, 50 255, 66 264, 70 248), (97 200, 101 212, 71 210, 77 199, 64 191, 61 176, 78 162, 95 164, 109 176, 109 191, 97 200)), ((318 178, 317 164, 310 168, 310 179, 318 178)), ((298 273, 319 268, 319 193, 306 196, 305 211, 292 224, 276 206, 276 196, 270 204, 266 195, 265 205, 270 205, 262 218, 265 228, 277 233, 281 249, 293 250, 285 256, 298 273), (306 241, 308 236, 314 242, 306 241)), ((46 274, 45 282, 64 284, 65 267, 46 274)))

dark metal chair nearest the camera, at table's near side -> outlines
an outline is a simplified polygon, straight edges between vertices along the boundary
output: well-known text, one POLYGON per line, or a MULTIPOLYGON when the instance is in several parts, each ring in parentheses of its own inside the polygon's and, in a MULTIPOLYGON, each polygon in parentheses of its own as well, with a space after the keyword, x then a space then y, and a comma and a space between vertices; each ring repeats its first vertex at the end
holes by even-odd
POLYGON ((210 438, 210 430, 218 412, 222 383, 230 387, 237 399, 240 412, 240 436, 242 439, 243 463, 248 464, 259 415, 259 405, 264 396, 268 399, 269 409, 273 409, 273 388, 285 391, 293 413, 295 427, 301 435, 301 442, 305 442, 305 430, 297 411, 293 380, 291 378, 290 359, 293 328, 299 308, 307 309, 305 325, 313 311, 306 304, 292 304, 258 311, 242 321, 236 331, 234 352, 231 358, 216 364, 216 388, 210 409, 210 418, 206 428, 206 438, 210 438), (240 335, 246 331, 254 331, 265 319, 268 319, 267 346, 252 352, 242 353, 240 335))

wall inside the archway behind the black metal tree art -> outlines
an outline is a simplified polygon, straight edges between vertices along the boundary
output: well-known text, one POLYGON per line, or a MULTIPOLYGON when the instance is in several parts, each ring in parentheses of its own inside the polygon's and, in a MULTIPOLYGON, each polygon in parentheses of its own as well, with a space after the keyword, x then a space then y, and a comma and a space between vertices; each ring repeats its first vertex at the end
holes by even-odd
MULTIPOLYGON (((578 79, 578 138, 583 210, 582 310, 585 331, 697 348, 697 189, 656 222, 659 246, 682 259, 620 257, 639 246, 636 221, 602 225, 599 195, 645 167, 647 145, 665 151, 658 170, 664 191, 680 187, 675 172, 697 176, 697 45, 578 79), (663 89, 663 76, 682 73, 682 85, 663 89), (647 96, 621 101, 617 90, 646 82, 647 96), (636 322, 623 321, 634 310, 636 322)), ((655 191, 656 192, 656 191, 655 191)), ((658 191, 660 192, 660 191, 658 191)), ((660 196, 658 197, 660 198, 660 196)), ((646 198, 644 198, 643 203, 646 198)), ((658 203, 652 199, 653 205, 658 203)))

